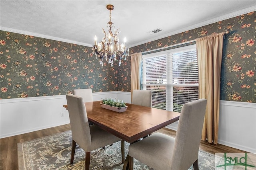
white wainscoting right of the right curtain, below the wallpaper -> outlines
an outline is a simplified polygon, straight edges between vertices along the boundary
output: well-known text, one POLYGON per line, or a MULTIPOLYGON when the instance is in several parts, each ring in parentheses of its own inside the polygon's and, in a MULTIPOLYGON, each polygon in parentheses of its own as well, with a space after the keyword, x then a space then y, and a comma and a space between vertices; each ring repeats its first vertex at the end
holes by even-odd
POLYGON ((256 153, 256 103, 220 101, 218 143, 256 153))

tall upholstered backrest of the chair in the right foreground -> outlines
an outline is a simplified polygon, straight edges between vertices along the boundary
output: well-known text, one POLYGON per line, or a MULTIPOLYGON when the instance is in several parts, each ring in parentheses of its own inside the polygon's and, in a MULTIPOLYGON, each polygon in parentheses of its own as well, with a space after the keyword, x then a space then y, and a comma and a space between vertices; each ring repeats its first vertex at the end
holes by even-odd
POLYGON ((173 170, 188 169, 198 159, 206 103, 206 99, 199 99, 182 107, 171 163, 173 170))

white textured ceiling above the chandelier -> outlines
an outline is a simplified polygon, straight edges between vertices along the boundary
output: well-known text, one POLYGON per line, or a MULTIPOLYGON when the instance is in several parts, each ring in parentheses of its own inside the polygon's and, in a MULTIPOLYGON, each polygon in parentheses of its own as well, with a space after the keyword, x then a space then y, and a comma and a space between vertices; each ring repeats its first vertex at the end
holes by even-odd
POLYGON ((115 7, 112 22, 128 47, 256 8, 255 0, 0 0, 0 26, 90 46, 94 35, 101 39, 102 28, 107 31, 107 4, 115 7), (148 33, 156 28, 163 31, 148 33))

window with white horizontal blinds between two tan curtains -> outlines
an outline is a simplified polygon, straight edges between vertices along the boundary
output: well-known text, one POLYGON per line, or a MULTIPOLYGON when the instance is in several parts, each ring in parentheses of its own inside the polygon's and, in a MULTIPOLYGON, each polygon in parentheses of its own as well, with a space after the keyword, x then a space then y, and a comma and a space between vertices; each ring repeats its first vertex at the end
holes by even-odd
POLYGON ((142 88, 152 90, 152 107, 180 112, 198 99, 196 45, 142 56, 142 88))

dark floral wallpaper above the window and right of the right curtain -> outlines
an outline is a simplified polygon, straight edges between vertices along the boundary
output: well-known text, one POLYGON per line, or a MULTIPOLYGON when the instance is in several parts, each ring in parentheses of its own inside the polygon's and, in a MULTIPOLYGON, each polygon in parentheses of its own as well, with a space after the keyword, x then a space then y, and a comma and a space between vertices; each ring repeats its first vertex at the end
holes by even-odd
POLYGON ((220 100, 256 103, 256 12, 132 47, 130 54, 168 47, 226 30, 229 33, 225 35, 223 46, 220 100))

